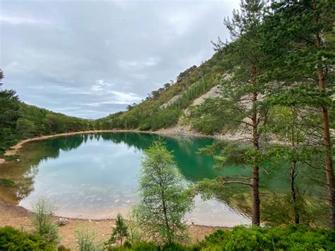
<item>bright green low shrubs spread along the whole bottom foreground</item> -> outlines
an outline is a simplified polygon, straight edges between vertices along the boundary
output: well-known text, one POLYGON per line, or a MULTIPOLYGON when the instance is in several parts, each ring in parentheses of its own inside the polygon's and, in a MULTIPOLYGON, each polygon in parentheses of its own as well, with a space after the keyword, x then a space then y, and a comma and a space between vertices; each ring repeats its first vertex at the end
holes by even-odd
MULTIPOLYGON (((91 232, 91 231, 90 231, 91 232)), ((91 233, 78 234, 78 250, 100 250, 91 233)), ((63 247, 64 248, 64 247, 63 247)), ((101 248, 101 247, 100 247, 101 248)), ((0 228, 1 250, 55 250, 40 235, 6 226, 0 228)), ((194 245, 125 242, 108 250, 334 250, 335 232, 304 226, 252 227, 216 230, 194 245)))

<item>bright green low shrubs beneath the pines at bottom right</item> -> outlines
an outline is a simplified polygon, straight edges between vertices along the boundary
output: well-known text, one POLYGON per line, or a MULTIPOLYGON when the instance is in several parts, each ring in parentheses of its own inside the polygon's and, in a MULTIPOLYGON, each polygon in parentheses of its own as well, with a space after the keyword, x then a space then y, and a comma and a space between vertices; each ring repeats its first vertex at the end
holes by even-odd
POLYGON ((334 250, 334 230, 287 226, 237 226, 216 230, 198 245, 201 250, 334 250))

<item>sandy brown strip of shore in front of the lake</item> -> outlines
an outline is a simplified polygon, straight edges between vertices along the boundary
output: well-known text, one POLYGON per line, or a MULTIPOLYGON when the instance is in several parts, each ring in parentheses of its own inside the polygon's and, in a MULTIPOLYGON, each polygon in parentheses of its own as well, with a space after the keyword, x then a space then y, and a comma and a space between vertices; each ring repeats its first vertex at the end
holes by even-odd
MULTIPOLYGON (((30 226, 31 214, 26 209, 20 206, 11 206, 0 202, 0 227, 2 226, 13 226, 14 228, 23 228, 25 230, 32 230, 30 226)), ((54 217, 57 221, 58 217, 54 217)), ((96 233, 96 240, 108 240, 112 226, 114 226, 114 220, 83 220, 78 218, 70 218, 69 223, 65 226, 59 227, 59 235, 61 236, 61 245, 72 250, 76 248, 76 237, 74 231, 76 228, 81 226, 88 226, 96 233)), ((192 236, 192 242, 203 240, 204 237, 213 232, 218 227, 212 226, 189 226, 189 233, 192 236)))

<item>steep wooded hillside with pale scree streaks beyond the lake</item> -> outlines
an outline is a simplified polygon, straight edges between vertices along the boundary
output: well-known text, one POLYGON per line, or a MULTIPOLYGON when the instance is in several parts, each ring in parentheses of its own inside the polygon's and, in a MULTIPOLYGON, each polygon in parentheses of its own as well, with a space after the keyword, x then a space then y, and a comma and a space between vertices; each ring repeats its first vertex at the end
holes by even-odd
POLYGON ((98 127, 156 131, 177 124, 194 124, 189 110, 220 91, 218 84, 227 76, 222 62, 223 52, 218 51, 200 66, 192 66, 180 73, 175 83, 165 83, 140 104, 129 105, 126 112, 98 119, 98 127))

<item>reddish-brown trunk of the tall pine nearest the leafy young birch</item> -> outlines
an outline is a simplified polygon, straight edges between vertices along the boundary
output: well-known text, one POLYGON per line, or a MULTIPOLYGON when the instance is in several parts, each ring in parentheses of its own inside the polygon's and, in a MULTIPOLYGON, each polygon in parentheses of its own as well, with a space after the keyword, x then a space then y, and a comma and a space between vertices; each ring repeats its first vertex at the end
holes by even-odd
MULTIPOLYGON (((259 134, 257 119, 257 92, 252 93, 252 144, 259 150, 259 134)), ((259 226, 260 223, 260 200, 259 200, 259 166, 252 167, 252 225, 259 226)))

